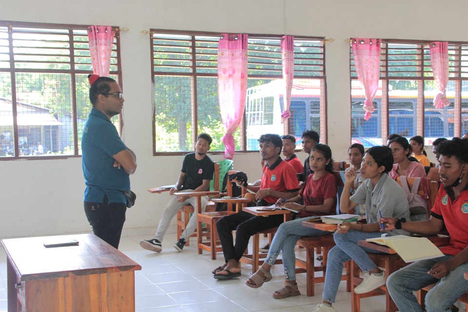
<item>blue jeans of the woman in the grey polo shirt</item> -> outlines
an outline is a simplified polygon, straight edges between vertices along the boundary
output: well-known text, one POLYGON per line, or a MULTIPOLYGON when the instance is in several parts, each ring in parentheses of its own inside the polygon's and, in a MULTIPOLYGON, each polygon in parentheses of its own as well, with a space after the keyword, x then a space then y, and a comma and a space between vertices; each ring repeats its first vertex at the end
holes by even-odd
POLYGON ((322 300, 335 302, 336 292, 341 282, 343 274, 343 264, 348 260, 354 260, 361 268, 362 272, 369 272, 377 268, 377 265, 370 259, 367 252, 379 254, 379 252, 359 246, 360 240, 380 237, 380 232, 353 231, 346 234, 334 234, 336 246, 328 253, 327 271, 325 272, 325 285, 322 293, 322 300))

